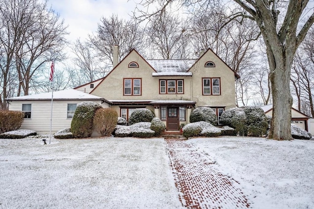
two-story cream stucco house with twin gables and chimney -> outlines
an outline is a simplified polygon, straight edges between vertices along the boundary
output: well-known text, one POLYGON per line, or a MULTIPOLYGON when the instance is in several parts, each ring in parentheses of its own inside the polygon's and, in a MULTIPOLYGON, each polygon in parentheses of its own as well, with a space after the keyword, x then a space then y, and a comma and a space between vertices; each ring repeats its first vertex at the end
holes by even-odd
POLYGON ((126 119, 137 108, 150 109, 166 130, 175 131, 189 123, 195 107, 213 108, 218 119, 235 107, 238 77, 210 49, 189 60, 145 60, 133 49, 120 63, 114 62, 105 78, 75 89, 107 99, 110 108, 126 119))

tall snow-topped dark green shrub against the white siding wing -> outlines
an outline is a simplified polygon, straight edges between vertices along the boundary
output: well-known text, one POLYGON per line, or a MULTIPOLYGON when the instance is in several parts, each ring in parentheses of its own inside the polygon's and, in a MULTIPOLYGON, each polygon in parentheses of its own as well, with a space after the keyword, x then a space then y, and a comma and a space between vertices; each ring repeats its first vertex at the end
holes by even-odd
POLYGON ((92 135, 94 114, 99 108, 101 108, 100 104, 95 102, 78 104, 71 122, 71 132, 74 138, 86 138, 92 135))

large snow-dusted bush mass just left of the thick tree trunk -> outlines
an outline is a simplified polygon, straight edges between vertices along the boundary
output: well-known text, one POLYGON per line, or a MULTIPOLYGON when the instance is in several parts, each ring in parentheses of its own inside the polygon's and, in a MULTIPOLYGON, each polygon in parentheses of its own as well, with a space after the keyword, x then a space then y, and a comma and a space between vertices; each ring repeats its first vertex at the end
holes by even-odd
POLYGON ((240 136, 263 136, 268 128, 264 111, 254 106, 228 109, 222 113, 220 122, 235 128, 240 136))

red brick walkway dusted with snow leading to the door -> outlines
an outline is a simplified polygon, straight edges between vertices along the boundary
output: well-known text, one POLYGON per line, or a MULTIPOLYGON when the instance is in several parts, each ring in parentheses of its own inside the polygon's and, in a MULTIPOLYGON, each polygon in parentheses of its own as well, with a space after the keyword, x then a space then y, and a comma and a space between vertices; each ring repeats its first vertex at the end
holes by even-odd
POLYGON ((246 209, 250 202, 210 156, 180 139, 165 139, 179 199, 188 209, 246 209))

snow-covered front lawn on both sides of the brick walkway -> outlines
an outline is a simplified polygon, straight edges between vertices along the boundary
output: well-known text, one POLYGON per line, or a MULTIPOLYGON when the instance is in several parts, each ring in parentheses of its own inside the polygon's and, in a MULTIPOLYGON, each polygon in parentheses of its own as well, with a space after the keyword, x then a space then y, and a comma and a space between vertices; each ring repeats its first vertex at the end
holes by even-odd
MULTIPOLYGON (((313 140, 187 142, 243 186, 252 208, 314 209, 313 140)), ((162 138, 52 139, 47 145, 42 139, 0 139, 0 208, 182 205, 162 138)))

